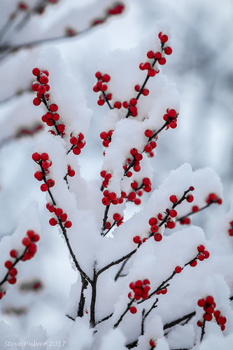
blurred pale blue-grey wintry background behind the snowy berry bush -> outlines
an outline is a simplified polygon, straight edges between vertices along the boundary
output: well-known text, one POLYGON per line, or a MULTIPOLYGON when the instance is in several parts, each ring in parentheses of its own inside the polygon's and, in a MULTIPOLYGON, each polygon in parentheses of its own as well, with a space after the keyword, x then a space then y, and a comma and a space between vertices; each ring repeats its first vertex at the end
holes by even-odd
MULTIPOLYGON (((223 206, 211 215, 218 218, 229 210, 233 194, 232 0, 221 4, 216 0, 127 0, 122 1, 122 14, 110 16, 106 15, 108 8, 115 4, 111 0, 0 2, 0 237, 13 233, 22 210, 31 201, 37 201, 41 217, 48 218, 31 161, 34 140, 43 133, 41 110, 32 105, 31 92, 31 69, 41 49, 51 45, 59 48, 82 86, 88 107, 94 110, 87 146, 80 156, 82 175, 92 180, 99 176, 102 161, 102 145, 96 135, 102 131, 101 118, 108 112, 107 107, 97 106, 97 95, 92 91, 99 60, 109 51, 138 46, 162 19, 171 26, 173 43, 173 54, 162 71, 176 83, 181 109, 178 128, 160 136, 152 159, 153 185, 157 187, 182 163, 190 163, 194 170, 210 166, 220 175, 224 193, 223 206)), ((215 222, 209 220, 207 213, 195 223, 211 230, 215 222)), ((34 264, 34 271, 28 268, 22 276, 38 280, 41 288, 29 292, 19 304, 12 304, 13 293, 20 293, 13 288, 1 300, 1 318, 13 328, 21 323, 22 332, 27 332, 29 323, 55 332, 57 324, 63 322, 61 308, 70 284, 76 281, 62 238, 49 227, 48 220, 41 223, 42 231, 49 235, 42 237, 41 253, 29 263, 34 264), (45 313, 56 316, 57 323, 51 323, 45 313)))

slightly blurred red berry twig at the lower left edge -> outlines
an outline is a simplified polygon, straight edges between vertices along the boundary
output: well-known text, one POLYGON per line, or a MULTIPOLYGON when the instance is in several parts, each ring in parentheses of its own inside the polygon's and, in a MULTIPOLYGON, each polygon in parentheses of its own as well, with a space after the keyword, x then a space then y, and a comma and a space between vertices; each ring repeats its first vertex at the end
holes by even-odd
MULTIPOLYGON (((20 255, 17 250, 12 249, 10 250, 10 260, 6 260, 5 267, 8 269, 8 272, 6 273, 5 278, 3 278, 3 281, 1 281, 0 285, 2 285, 5 281, 8 281, 10 284, 15 284, 17 279, 17 269, 15 268, 15 265, 20 260, 22 262, 26 260, 30 260, 34 255, 36 254, 36 242, 40 240, 40 236, 36 234, 33 230, 27 231, 27 236, 22 238, 22 245, 24 245, 24 251, 20 255)), ((6 292, 3 292, 0 290, 0 299, 5 295, 6 292)))

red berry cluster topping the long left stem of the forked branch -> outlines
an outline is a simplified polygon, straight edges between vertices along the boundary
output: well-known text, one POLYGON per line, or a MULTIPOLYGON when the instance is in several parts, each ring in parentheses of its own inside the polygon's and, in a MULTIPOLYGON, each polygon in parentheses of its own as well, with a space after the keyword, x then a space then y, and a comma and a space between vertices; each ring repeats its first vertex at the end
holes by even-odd
POLYGON ((44 181, 44 183, 41 184, 41 191, 48 191, 50 187, 53 187, 55 185, 54 180, 46 180, 46 175, 50 173, 48 168, 52 166, 52 161, 50 161, 48 153, 39 154, 38 152, 35 152, 34 154, 32 154, 31 158, 41 167, 41 171, 36 171, 36 173, 34 173, 34 177, 36 177, 36 180, 44 181))

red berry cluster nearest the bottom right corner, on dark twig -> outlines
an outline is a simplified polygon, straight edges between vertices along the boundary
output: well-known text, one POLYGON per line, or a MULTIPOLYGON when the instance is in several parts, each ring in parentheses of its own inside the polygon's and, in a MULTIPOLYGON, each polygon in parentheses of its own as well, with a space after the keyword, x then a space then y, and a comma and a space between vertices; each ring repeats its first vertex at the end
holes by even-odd
MULTIPOLYGON (((225 330, 225 323, 227 323, 227 318, 225 318, 225 316, 222 316, 219 310, 215 310, 216 303, 214 302, 214 299, 211 295, 208 295, 206 299, 199 299, 197 305, 199 307, 203 307, 205 311, 202 316, 203 320, 211 321, 214 316, 216 318, 216 322, 218 325, 220 325, 221 330, 225 330)), ((199 327, 202 327, 203 321, 197 321, 197 325, 199 327)))

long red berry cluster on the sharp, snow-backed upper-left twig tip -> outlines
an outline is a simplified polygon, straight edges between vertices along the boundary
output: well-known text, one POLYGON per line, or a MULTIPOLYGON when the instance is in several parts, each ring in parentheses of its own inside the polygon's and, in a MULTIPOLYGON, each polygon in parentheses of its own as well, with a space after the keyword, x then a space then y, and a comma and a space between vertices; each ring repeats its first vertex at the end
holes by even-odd
MULTIPOLYGON (((32 90, 36 92, 36 97, 33 100, 33 104, 38 106, 41 105, 41 102, 43 102, 48 110, 48 112, 41 117, 41 120, 48 126, 55 126, 57 135, 64 136, 64 123, 57 123, 57 121, 60 119, 60 116, 57 113, 58 106, 55 103, 50 103, 50 95, 47 93, 50 90, 50 86, 48 85, 48 70, 41 71, 41 69, 34 68, 32 69, 32 74, 36 76, 36 82, 32 84, 32 90)), ((50 130, 50 133, 55 135, 54 130, 50 130)))

